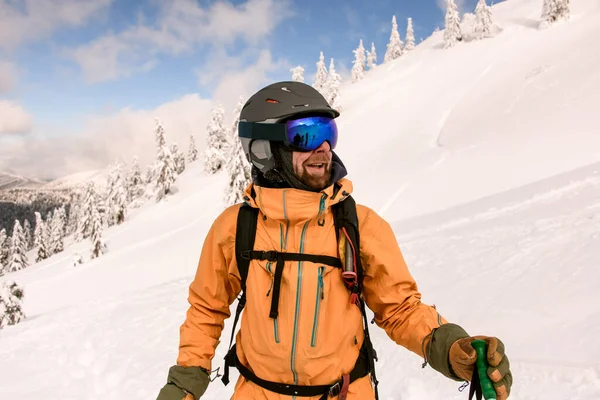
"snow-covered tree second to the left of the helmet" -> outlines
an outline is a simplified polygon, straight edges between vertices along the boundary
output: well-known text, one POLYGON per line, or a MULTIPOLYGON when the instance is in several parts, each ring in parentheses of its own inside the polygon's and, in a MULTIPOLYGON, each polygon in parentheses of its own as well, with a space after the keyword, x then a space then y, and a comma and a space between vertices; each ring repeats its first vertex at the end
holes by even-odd
POLYGON ((225 127, 225 110, 217 104, 212 110, 212 118, 206 128, 206 150, 204 152, 204 170, 215 174, 227 163, 229 152, 228 131, 225 127))

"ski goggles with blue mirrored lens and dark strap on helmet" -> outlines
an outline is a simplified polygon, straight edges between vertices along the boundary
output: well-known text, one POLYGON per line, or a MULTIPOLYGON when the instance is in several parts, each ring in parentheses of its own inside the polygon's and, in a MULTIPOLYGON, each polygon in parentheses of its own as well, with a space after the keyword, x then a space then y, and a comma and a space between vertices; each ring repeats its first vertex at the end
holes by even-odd
POLYGON ((254 140, 274 140, 296 151, 313 151, 323 142, 329 142, 331 149, 337 144, 337 125, 329 117, 305 117, 283 123, 263 123, 240 121, 238 134, 254 140))

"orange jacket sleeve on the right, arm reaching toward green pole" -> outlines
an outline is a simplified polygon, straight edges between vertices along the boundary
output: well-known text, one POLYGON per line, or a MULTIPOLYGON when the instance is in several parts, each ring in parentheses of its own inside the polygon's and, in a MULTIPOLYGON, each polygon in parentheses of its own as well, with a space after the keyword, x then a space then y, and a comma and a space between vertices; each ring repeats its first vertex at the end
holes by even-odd
POLYGON ((375 211, 364 209, 359 230, 367 306, 392 340, 426 358, 434 330, 447 321, 434 307, 421 302, 391 226, 375 211))

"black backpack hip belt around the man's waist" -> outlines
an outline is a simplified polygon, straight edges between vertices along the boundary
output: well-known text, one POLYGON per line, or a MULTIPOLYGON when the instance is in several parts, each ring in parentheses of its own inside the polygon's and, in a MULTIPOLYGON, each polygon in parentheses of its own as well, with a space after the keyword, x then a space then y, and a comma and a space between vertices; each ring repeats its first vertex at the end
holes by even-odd
POLYGON ((235 345, 227 353, 226 369, 225 374, 229 375, 228 367, 235 366, 240 375, 242 375, 247 381, 250 381, 263 389, 270 392, 282 394, 284 396, 296 396, 296 397, 314 397, 321 396, 319 400, 327 400, 329 397, 340 396, 340 399, 345 399, 348 393, 348 387, 350 384, 357 379, 367 376, 369 373, 368 366, 361 362, 362 358, 359 357, 357 364, 349 374, 343 375, 337 382, 332 385, 315 385, 315 386, 304 386, 304 385, 292 385, 280 382, 271 382, 265 379, 261 379, 254 372, 250 371, 245 365, 243 365, 236 353, 235 345))

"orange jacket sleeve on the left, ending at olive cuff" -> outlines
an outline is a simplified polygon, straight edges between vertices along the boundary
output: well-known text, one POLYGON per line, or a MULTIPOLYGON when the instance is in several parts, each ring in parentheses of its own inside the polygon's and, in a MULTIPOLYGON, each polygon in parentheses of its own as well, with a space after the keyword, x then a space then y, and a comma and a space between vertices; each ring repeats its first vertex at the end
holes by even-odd
POLYGON ((180 329, 177 364, 212 370, 230 305, 241 290, 235 261, 237 207, 225 210, 210 228, 189 288, 189 308, 180 329))

